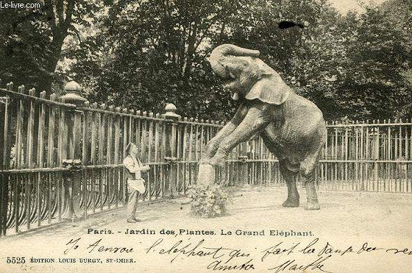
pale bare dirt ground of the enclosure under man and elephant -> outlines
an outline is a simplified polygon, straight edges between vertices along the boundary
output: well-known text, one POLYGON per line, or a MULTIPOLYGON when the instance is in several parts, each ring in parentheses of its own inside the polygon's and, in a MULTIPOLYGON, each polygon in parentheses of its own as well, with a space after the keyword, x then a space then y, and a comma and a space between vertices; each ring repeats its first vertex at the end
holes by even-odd
POLYGON ((196 217, 177 198, 141 203, 136 224, 121 208, 2 239, 0 272, 412 272, 412 194, 322 191, 321 210, 305 211, 304 189, 299 208, 281 206, 282 187, 230 191, 223 217, 196 217))

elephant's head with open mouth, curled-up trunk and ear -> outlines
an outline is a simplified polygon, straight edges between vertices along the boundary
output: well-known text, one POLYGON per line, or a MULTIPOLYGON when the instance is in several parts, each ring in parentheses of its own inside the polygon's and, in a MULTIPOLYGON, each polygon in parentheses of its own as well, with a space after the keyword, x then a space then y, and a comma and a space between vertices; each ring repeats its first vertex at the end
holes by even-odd
POLYGON ((282 104, 292 91, 278 73, 257 58, 260 52, 236 45, 220 45, 210 55, 212 70, 223 79, 223 87, 246 100, 258 99, 269 104, 282 104))

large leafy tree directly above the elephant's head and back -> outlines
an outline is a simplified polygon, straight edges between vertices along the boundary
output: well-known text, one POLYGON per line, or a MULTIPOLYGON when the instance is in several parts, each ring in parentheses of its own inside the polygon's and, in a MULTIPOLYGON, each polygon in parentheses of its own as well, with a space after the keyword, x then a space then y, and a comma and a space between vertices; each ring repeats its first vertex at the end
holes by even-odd
POLYGON ((225 42, 260 49, 261 58, 296 93, 315 102, 326 118, 335 117, 335 91, 344 73, 342 42, 349 35, 342 18, 326 1, 265 2, 254 1, 239 10, 225 42), (305 27, 280 29, 283 20, 305 27))

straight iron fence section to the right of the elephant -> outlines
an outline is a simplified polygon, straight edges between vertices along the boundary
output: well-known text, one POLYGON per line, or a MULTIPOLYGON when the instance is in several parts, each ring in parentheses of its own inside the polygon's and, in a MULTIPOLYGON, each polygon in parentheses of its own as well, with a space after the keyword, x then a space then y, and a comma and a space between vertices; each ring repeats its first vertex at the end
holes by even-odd
POLYGON ((320 166, 326 189, 412 192, 412 123, 369 120, 327 125, 320 166))

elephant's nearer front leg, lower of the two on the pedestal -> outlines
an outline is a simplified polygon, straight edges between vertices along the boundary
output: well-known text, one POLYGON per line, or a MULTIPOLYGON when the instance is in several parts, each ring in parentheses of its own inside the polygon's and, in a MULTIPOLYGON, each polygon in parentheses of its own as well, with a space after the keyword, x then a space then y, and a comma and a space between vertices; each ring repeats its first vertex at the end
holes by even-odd
POLYGON ((223 167, 225 164, 225 158, 230 151, 235 148, 239 143, 247 141, 253 135, 262 132, 262 130, 269 124, 269 116, 264 114, 262 109, 251 108, 246 114, 244 120, 236 127, 235 130, 228 137, 225 137, 219 148, 216 150, 215 155, 209 160, 209 163, 214 166, 223 167))

